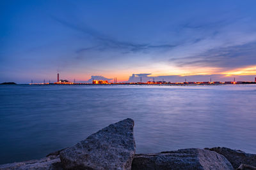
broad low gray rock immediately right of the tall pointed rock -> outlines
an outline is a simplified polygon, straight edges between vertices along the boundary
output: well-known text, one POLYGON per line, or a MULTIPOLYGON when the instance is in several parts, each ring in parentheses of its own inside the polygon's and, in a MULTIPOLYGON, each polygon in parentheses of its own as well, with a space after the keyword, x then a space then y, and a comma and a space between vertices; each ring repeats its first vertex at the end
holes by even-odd
POLYGON ((228 160, 216 152, 198 148, 135 155, 132 170, 136 169, 233 169, 228 160))

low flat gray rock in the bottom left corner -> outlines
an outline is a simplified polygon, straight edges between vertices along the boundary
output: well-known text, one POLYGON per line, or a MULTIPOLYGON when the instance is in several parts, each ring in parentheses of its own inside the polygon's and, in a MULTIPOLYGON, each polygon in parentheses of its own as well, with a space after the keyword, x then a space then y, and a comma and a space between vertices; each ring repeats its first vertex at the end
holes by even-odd
POLYGON ((49 156, 39 160, 29 160, 25 162, 15 162, 12 164, 0 165, 2 170, 10 169, 51 169, 61 170, 63 169, 60 164, 59 156, 49 156))

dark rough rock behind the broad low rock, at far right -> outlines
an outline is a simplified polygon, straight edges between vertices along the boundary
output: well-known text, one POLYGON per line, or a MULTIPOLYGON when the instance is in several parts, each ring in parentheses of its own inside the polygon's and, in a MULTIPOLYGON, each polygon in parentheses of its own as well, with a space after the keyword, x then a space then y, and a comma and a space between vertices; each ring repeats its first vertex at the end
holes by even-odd
POLYGON ((225 147, 205 148, 205 150, 212 150, 224 155, 235 169, 239 167, 240 164, 256 166, 256 154, 245 153, 241 150, 232 150, 225 147))

